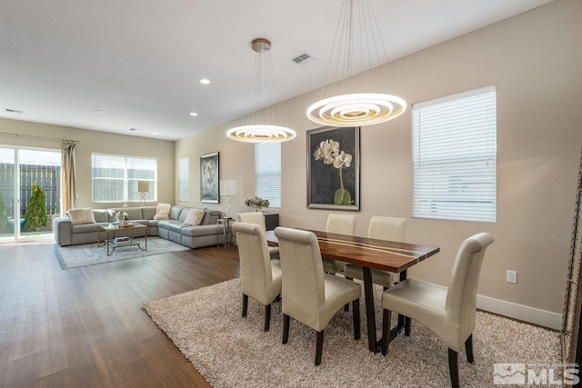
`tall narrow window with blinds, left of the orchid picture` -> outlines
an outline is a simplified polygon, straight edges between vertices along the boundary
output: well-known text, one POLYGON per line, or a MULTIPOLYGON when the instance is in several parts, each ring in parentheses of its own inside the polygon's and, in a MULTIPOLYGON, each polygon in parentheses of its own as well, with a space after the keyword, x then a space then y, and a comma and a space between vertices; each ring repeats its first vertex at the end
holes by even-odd
POLYGON ((281 207, 281 144, 255 144, 256 196, 281 207))

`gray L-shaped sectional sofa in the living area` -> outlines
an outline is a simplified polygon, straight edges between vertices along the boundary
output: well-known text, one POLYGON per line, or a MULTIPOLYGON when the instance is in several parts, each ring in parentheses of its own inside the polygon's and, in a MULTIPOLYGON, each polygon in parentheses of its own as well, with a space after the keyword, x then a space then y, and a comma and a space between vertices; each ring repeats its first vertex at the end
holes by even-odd
MULTIPOLYGON (((224 225, 217 224, 221 213, 217 210, 206 210, 199 225, 186 225, 184 221, 191 207, 172 206, 168 220, 155 220, 156 206, 118 207, 111 209, 92 209, 95 223, 73 224, 69 217, 58 217, 53 222, 55 242, 61 246, 89 244, 97 242, 98 224, 115 223, 115 214, 123 211, 127 218, 135 223, 147 225, 147 235, 160 236, 166 240, 186 245, 190 248, 224 243, 224 225)), ((115 232, 115 237, 129 234, 129 231, 115 232)), ((135 230, 135 237, 146 234, 145 230, 135 230)), ((101 232, 100 238, 105 238, 101 232)))

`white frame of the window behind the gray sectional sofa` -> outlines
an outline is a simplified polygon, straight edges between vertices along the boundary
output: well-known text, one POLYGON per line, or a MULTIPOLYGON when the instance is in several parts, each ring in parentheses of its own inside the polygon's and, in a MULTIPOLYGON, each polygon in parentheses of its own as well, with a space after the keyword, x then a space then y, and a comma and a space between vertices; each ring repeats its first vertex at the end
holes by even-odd
POLYGON ((139 181, 148 181, 150 191, 146 193, 146 201, 157 201, 157 159, 152 157, 144 157, 144 156, 129 156, 129 155, 119 155, 119 154, 100 154, 100 153, 93 153, 91 154, 91 201, 95 204, 112 204, 112 203, 127 203, 127 202, 139 202, 139 193, 137 192, 137 183, 139 181), (123 168, 124 176, 123 177, 104 177, 104 176, 95 176, 95 158, 115 158, 117 162, 122 162, 121 166, 117 166, 118 169, 123 168), (144 161, 148 164, 153 162, 154 169, 153 170, 146 170, 153 172, 153 178, 151 177, 134 177, 130 178, 127 174, 128 170, 131 169, 130 162, 139 162, 144 161), (110 181, 121 181, 123 182, 123 195, 121 198, 115 199, 95 199, 95 182, 100 180, 110 180, 110 181), (129 186, 130 183, 132 186, 135 185, 135 190, 132 191, 134 194, 133 197, 130 196, 129 186))

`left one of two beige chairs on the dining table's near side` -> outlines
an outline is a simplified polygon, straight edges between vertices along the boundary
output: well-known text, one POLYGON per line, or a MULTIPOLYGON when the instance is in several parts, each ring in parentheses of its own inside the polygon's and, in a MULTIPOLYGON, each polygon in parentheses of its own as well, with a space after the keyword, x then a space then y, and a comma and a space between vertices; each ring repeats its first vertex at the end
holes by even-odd
POLYGON ((233 224, 240 259, 240 282, 243 293, 243 317, 249 296, 265 305, 265 331, 271 323, 271 303, 281 294, 281 262, 271 260, 265 232, 257 224, 233 224))

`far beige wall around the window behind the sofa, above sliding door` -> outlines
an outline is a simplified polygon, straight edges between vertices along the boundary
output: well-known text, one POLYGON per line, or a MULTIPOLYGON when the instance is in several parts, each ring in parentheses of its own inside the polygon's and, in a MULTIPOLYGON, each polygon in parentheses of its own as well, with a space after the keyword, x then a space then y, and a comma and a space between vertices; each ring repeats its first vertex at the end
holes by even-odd
MULTIPOLYGON (((20 137, 15 137, 0 134, 0 146, 5 144, 24 147, 53 148, 56 150, 61 149, 62 144, 60 141, 35 139, 26 137, 26 135, 78 140, 80 143, 75 147, 78 194, 76 207, 91 206, 95 208, 105 208, 123 205, 123 203, 94 204, 91 202, 92 153, 156 157, 158 171, 158 202, 174 202, 174 142, 6 119, 0 119, 0 133, 20 135, 20 137)), ((129 203, 129 205, 137 204, 139 203, 129 203)), ((156 203, 153 202, 146 204, 156 203)))

